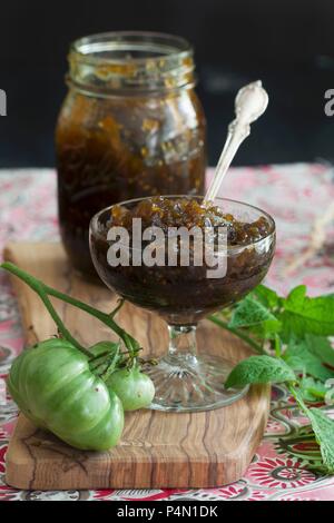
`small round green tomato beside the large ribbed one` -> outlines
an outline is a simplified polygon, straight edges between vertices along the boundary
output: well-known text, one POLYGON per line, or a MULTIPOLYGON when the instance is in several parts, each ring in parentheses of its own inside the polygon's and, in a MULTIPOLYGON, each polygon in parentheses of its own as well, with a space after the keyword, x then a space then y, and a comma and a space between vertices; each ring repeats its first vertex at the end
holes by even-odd
POLYGON ((109 391, 114 391, 120 398, 125 411, 148 407, 155 397, 153 381, 138 367, 116 371, 106 383, 109 391))

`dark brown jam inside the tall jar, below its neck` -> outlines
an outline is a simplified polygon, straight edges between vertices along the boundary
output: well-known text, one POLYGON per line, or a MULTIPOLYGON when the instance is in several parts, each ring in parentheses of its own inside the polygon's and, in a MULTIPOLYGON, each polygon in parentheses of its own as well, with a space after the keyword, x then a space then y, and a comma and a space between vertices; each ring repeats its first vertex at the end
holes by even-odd
POLYGON ((56 130, 60 233, 72 265, 92 273, 90 218, 118 201, 200 195, 205 118, 193 90, 96 98, 70 91, 56 130))

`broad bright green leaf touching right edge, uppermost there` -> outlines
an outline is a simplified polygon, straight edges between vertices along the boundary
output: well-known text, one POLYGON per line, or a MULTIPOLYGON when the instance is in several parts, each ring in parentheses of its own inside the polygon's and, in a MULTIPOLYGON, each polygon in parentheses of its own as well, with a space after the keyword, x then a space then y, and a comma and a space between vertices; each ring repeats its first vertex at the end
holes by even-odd
POLYGON ((283 300, 284 310, 278 315, 285 341, 292 335, 305 337, 306 334, 318 336, 334 335, 334 296, 306 296, 306 287, 294 288, 283 300))

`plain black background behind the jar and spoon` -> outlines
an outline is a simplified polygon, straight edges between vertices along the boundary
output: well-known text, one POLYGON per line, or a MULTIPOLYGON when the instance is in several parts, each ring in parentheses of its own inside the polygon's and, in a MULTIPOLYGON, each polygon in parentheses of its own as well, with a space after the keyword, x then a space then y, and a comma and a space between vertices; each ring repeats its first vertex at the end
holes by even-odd
POLYGON ((0 167, 52 166, 53 128, 73 39, 108 30, 180 34, 196 50, 198 93, 217 161, 237 89, 261 78, 271 101, 235 165, 334 161, 333 0, 10 0, 0 7, 0 167))

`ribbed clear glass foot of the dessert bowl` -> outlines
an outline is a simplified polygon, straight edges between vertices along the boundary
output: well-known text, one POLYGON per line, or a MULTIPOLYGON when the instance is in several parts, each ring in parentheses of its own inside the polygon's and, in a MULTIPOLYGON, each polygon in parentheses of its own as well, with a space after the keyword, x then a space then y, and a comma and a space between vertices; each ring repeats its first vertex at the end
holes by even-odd
POLYGON ((150 408, 196 412, 224 407, 243 397, 248 386, 226 389, 224 382, 234 364, 212 356, 178 353, 146 369, 156 387, 150 408))

